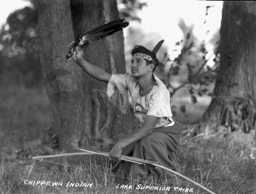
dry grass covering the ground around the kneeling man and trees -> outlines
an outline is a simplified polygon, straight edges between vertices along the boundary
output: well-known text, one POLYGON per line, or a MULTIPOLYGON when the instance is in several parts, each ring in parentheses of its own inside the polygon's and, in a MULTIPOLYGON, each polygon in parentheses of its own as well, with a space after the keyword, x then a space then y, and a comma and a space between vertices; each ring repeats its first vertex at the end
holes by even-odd
MULTIPOLYGON (((0 103, 0 146, 3 156, 0 165, 0 194, 191 193, 174 191, 173 188, 169 192, 116 188, 120 181, 108 170, 110 164, 104 157, 77 156, 49 159, 50 162, 36 160, 35 163, 27 158, 5 160, 5 155, 22 147, 24 142, 40 138, 44 130, 51 126, 52 115, 44 90, 16 88, 4 91, 0 103), (63 182, 63 185, 32 186, 24 184, 24 180, 63 182), (66 187, 69 181, 93 183, 93 186, 66 187)), ((253 147, 256 147, 253 132, 233 132, 227 137, 217 135, 194 141, 182 138, 179 150, 182 174, 216 194, 256 194, 256 159, 248 157, 253 147)), ((165 186, 165 183, 159 180, 147 185, 165 186)), ((183 179, 175 186, 193 188, 194 194, 207 193, 183 179)))

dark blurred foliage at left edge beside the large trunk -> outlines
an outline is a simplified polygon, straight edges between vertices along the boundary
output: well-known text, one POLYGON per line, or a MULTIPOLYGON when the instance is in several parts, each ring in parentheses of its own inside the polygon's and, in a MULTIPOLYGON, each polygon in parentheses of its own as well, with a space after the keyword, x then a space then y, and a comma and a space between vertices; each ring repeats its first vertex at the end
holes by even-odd
POLYGON ((25 86, 41 81, 37 22, 37 10, 25 7, 10 14, 0 31, 1 73, 12 72, 25 86))

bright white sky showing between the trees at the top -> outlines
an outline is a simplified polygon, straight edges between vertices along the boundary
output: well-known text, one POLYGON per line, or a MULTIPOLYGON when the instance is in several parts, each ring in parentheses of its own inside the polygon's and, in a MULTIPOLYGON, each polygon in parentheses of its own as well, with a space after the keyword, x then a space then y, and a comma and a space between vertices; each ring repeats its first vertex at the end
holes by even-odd
MULTIPOLYGON (((177 23, 183 18, 186 25, 194 25, 193 33, 200 40, 209 41, 212 35, 220 28, 222 1, 204 0, 140 0, 147 6, 138 11, 141 23, 130 22, 131 26, 140 26, 146 33, 154 32, 165 39, 169 52, 174 49, 175 42, 183 37, 183 33, 177 23), (209 8, 206 16, 206 6, 209 8), (155 22, 157 21, 157 22, 155 22), (207 21, 204 23, 204 21, 207 21), (209 31, 208 34, 205 34, 209 31)), ((30 6, 28 0, 6 0, 0 2, 0 25, 6 22, 8 15, 24 6, 30 6)), ((124 31, 125 32, 125 31, 124 31)), ((211 50, 212 45, 208 44, 211 50)))

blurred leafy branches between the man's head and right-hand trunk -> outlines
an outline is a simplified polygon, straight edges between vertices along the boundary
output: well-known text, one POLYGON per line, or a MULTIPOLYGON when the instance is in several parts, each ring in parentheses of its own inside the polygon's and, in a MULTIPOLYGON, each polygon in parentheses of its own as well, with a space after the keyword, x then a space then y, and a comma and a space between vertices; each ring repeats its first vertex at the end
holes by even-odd
MULTIPOLYGON (((208 15, 209 8, 211 6, 206 6, 206 15, 208 15)), ((204 21, 204 23, 206 22, 207 20, 204 21)), ((171 60, 166 54, 161 60, 160 68, 163 69, 162 74, 164 75, 162 81, 166 84, 171 97, 177 98, 181 93, 184 96, 184 92, 181 92, 180 89, 186 88, 187 92, 185 93, 190 95, 192 103, 195 104, 198 102, 198 97, 212 96, 220 60, 219 32, 207 42, 207 44, 211 43, 215 47, 215 51, 209 55, 206 42, 200 41, 194 36, 193 25, 187 26, 183 19, 180 19, 178 25, 183 31, 183 39, 175 44, 173 52, 179 53, 174 59, 171 60)), ((205 32, 205 34, 208 33, 209 30, 205 32)), ((177 104, 172 104, 174 115, 178 111, 186 116, 186 105, 180 104, 179 109, 177 108, 177 104)))

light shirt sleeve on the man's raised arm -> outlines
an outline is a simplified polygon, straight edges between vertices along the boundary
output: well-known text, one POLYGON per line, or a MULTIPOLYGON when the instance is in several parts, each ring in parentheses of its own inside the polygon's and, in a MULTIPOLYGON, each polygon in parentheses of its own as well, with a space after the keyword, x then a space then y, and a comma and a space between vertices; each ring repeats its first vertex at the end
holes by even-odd
POLYGON ((108 82, 107 94, 111 97, 113 93, 127 93, 131 85, 131 76, 129 73, 125 74, 112 74, 108 82))

